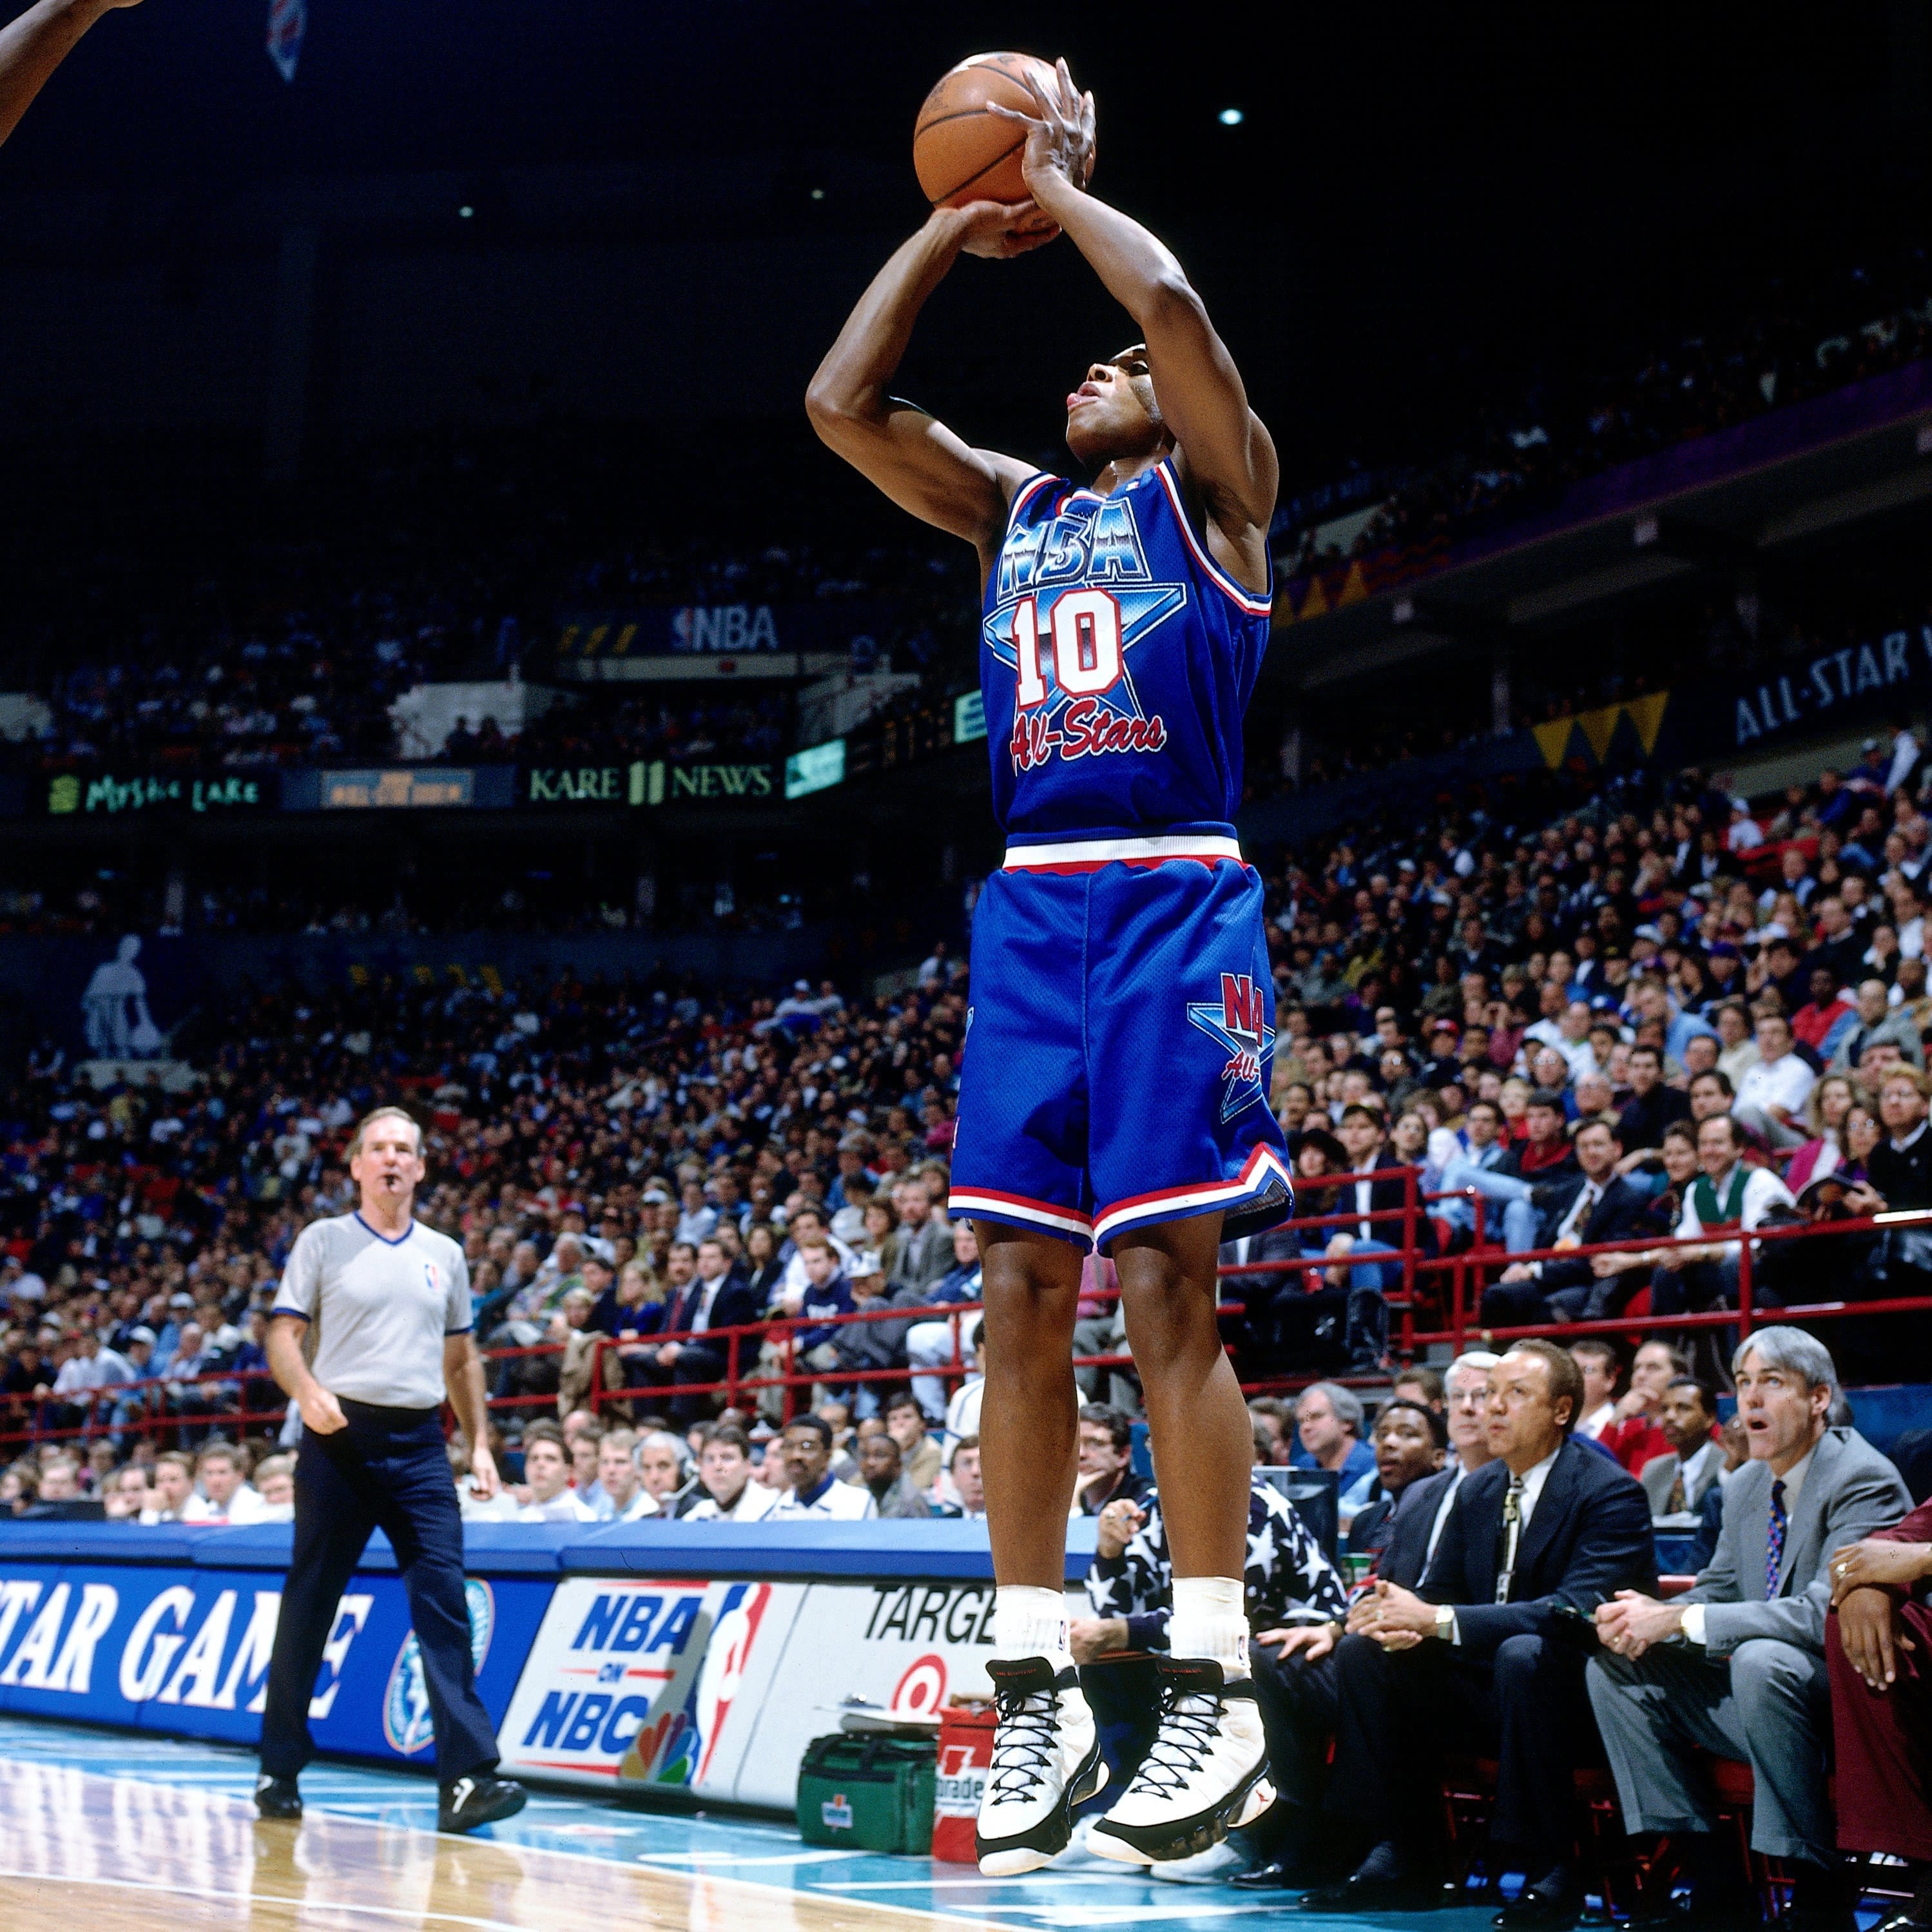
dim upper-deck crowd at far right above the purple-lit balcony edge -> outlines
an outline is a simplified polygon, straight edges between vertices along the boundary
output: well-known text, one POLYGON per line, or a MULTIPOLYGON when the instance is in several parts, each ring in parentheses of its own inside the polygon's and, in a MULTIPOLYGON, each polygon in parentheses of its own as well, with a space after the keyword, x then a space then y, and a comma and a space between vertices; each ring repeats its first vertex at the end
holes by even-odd
MULTIPOLYGON (((1563 485, 1932 354, 1932 263, 1918 243, 1768 292, 1729 323, 1704 321, 1569 392, 1540 386, 1486 413, 1482 439, 1405 473, 1347 547, 1314 520, 1289 570, 1457 539, 1551 502, 1563 485)), ((1405 452, 1406 454, 1406 452, 1405 452)), ((1410 458, 1412 460, 1412 458, 1410 458)), ((1321 495, 1321 493, 1316 493, 1321 495)))

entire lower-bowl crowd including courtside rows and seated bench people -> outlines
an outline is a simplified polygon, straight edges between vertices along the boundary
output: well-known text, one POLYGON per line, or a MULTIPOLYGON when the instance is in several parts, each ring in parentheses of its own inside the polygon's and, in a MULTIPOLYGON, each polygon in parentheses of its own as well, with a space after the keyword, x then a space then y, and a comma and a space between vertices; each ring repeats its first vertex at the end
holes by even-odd
MULTIPOLYGON (((1646 1884, 1689 1882, 1698 1924, 1756 1922, 1700 1752, 1752 1768, 1752 1843, 1806 1928, 1849 1932, 1841 1843, 1922 1857, 1922 1787, 1895 1772, 1922 1679, 1878 1692, 1872 1660, 1880 1636, 1932 1634, 1913 1621, 1928 1528, 1841 1389, 1874 1349, 1888 1379, 1913 1374, 1920 1329, 1820 1323, 1828 1347, 1758 1327, 1737 1350, 1660 1331, 1633 1362, 1621 1335, 1497 1339, 1403 1366, 1401 1258, 1368 1219, 1418 1182, 1420 1248, 1476 1254, 1480 1320, 1501 1329, 1721 1316, 1747 1244, 1760 1308, 1808 1300, 1818 1271, 1833 1298, 1922 1293, 1915 1231, 1864 1221, 1932 1209, 1922 777, 1907 734, 1758 810, 1687 773, 1549 825, 1451 821, 1273 867, 1273 1103, 1300 1219, 1329 1225, 1225 1250, 1258 1269, 1229 1277, 1229 1339, 1244 1372, 1345 1379, 1250 1410, 1281 1803, 1227 1855, 1244 1884, 1434 1903, 1434 1793, 1468 1739, 1497 1762, 1476 1855, 1526 1878, 1517 1926, 1575 1909, 1575 1760, 1607 1760, 1646 1884), (1832 1217, 1853 1225, 1791 1244, 1781 1271, 1766 1236, 1832 1217), (1569 1258, 1605 1240, 1621 1252, 1569 1258), (1287 1499, 1298 1470, 1335 1478, 1339 1565, 1287 1499), (1689 1592, 1660 1584, 1656 1536, 1694 1551, 1689 1592)), ((274 1281, 296 1231, 352 1204, 359 1113, 404 1094, 427 1124, 419 1211, 469 1264, 512 1478, 487 1505, 462 1492, 469 1513, 983 1513, 978 1254, 943 1206, 964 1014, 964 968, 935 949, 914 989, 871 1003, 829 983, 742 1003, 572 981, 265 993, 180 1094, 95 1092, 37 1051, 0 1151, 19 1445, 0 1505, 286 1513, 299 1441, 263 1374, 274 1281)), ((1082 1658, 1157 1650, 1169 1594, 1109 1291, 1095 1260, 1082 1658)))

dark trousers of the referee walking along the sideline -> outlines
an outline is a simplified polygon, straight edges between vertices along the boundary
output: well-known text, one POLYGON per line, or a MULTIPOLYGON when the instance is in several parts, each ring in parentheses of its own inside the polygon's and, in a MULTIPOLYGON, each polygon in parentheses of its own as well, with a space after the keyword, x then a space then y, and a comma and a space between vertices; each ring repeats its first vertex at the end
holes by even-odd
POLYGON ((435 1408, 342 1403, 346 1430, 303 1430, 296 1457, 296 1551, 269 1660, 261 1768, 294 1777, 311 1756, 309 1698, 336 1604, 381 1528, 396 1551, 410 1621, 423 1654, 423 1687, 437 1729, 437 1781, 456 1783, 497 1764, 497 1731, 469 1667, 464 1524, 435 1408))

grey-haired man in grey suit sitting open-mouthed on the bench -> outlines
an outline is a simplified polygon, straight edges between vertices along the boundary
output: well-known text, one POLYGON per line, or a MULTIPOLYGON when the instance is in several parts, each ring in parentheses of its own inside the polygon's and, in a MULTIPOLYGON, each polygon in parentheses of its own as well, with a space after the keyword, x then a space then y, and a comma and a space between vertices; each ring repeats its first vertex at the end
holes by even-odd
POLYGON ((1698 1750, 1750 1766, 1750 1843, 1791 1870, 1795 1932, 1853 1932, 1826 1803, 1826 1559, 1895 1522, 1911 1497, 1864 1437, 1828 1424, 1837 1370, 1816 1337, 1758 1329, 1731 1372, 1750 1461, 1723 1492, 1718 1553, 1669 1604, 1625 1590, 1598 1609, 1590 1704, 1625 1830, 1694 1841, 1698 1932, 1758 1924, 1714 1837, 1698 1750))

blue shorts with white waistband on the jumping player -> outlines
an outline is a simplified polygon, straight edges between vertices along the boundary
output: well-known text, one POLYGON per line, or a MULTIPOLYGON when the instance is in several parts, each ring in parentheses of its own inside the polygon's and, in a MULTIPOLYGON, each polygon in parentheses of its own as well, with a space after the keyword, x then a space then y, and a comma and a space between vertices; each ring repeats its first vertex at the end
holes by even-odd
POLYGON ((1103 1248, 1294 1211, 1262 879, 1231 825, 1016 837, 974 908, 954 1215, 1103 1248))

